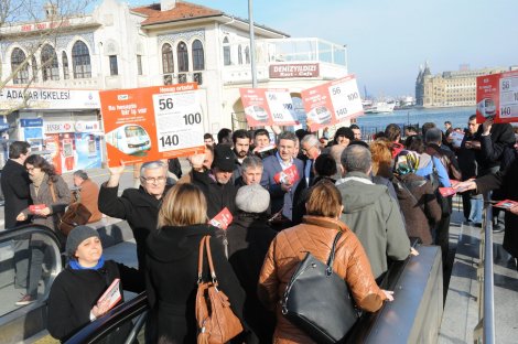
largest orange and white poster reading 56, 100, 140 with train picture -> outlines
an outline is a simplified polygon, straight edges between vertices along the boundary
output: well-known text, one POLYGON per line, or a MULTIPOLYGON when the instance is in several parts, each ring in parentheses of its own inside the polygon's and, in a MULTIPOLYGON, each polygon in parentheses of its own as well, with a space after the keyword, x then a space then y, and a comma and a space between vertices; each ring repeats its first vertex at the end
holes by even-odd
POLYGON ((197 84, 100 92, 109 166, 205 150, 197 84))

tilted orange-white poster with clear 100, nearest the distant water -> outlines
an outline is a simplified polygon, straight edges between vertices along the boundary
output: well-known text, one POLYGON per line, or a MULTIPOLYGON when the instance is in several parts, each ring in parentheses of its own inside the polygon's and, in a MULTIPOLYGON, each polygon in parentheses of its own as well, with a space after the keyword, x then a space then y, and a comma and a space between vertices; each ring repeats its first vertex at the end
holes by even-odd
POLYGON ((311 131, 364 115, 354 75, 305 89, 301 96, 311 131))

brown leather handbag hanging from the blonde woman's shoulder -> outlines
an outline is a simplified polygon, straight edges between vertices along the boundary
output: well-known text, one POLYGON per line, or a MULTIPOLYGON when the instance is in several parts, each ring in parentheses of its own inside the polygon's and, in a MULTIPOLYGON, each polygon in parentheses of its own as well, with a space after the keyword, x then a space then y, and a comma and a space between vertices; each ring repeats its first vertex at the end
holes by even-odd
POLYGON ((196 321, 198 344, 223 344, 242 332, 239 318, 230 309, 228 297, 219 290, 209 245, 211 236, 199 241, 198 289, 196 293, 196 321), (203 281, 204 247, 207 251, 212 281, 203 281))

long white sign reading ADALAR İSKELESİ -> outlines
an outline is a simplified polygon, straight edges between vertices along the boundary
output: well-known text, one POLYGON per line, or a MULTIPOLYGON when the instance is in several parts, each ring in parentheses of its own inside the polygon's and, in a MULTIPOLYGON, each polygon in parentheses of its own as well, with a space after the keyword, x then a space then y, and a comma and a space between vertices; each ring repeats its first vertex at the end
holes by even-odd
POLYGON ((20 107, 26 100, 29 109, 98 109, 96 89, 61 89, 33 87, 3 87, 0 89, 0 109, 20 107))

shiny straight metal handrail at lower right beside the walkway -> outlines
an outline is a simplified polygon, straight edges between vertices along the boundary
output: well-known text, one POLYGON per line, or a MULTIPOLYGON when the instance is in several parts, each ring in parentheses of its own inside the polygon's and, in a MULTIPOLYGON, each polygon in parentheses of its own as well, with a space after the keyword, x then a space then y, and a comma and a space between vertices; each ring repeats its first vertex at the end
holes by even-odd
MULTIPOLYGON (((490 195, 487 197, 490 201, 490 195)), ((487 205, 484 243, 484 344, 495 343, 495 295, 493 280, 493 207, 487 205)))

